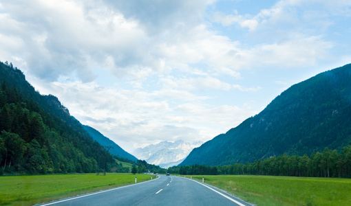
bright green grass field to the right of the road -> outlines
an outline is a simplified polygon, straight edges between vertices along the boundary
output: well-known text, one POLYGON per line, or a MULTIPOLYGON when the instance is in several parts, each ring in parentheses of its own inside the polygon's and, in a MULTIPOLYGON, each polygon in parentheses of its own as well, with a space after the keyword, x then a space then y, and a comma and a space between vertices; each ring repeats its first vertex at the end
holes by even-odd
POLYGON ((351 179, 217 175, 204 182, 255 205, 351 205, 351 179))

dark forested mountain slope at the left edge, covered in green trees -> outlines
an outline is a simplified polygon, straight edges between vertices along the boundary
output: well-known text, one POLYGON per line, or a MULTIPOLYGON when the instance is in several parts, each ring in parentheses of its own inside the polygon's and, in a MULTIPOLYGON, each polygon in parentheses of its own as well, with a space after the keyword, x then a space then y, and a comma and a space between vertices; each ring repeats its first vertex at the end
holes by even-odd
POLYGON ((96 172, 116 164, 53 95, 0 62, 0 174, 96 172))

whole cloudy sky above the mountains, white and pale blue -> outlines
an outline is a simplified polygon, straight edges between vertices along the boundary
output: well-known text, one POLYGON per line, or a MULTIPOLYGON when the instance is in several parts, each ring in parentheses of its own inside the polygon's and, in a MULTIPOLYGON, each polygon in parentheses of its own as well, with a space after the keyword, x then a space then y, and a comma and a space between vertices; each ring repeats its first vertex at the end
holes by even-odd
POLYGON ((128 152, 226 133, 350 36, 349 0, 0 1, 0 60, 128 152))

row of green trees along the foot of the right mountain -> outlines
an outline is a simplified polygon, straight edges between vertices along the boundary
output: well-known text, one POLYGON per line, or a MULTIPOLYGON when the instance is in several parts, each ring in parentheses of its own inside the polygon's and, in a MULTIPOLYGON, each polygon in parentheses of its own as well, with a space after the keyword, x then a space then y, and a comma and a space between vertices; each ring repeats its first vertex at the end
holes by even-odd
POLYGON ((182 175, 254 174, 351 178, 351 146, 345 146, 341 152, 325 148, 323 152, 314 152, 310 157, 285 153, 246 164, 173 166, 168 172, 182 175))

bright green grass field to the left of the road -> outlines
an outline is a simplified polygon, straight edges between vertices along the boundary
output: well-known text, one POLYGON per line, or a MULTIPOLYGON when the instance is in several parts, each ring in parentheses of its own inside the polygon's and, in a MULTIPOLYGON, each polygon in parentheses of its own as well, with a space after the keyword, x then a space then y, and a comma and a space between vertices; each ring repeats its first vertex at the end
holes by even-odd
POLYGON ((0 205, 34 205, 60 198, 130 185, 151 179, 147 174, 54 174, 0 176, 0 205))

